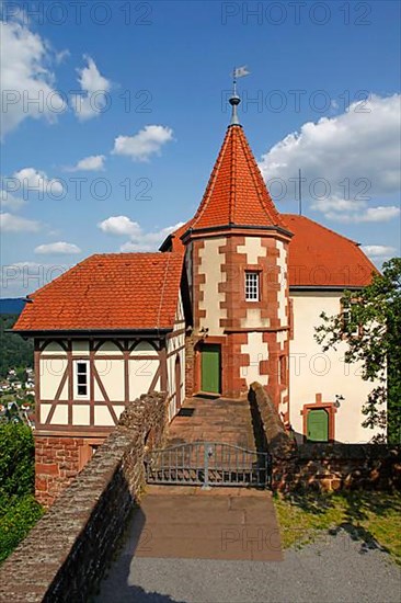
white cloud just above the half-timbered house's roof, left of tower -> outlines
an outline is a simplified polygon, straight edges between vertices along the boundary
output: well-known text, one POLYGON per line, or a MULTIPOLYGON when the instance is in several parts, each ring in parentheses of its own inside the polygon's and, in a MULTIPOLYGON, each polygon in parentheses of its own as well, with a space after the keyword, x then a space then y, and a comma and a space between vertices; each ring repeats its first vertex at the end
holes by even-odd
POLYGON ((165 237, 180 228, 184 223, 175 224, 161 228, 156 232, 144 232, 137 221, 133 221, 127 216, 112 216, 98 226, 103 232, 112 235, 129 236, 129 240, 119 248, 123 252, 128 251, 156 251, 163 242, 165 237))

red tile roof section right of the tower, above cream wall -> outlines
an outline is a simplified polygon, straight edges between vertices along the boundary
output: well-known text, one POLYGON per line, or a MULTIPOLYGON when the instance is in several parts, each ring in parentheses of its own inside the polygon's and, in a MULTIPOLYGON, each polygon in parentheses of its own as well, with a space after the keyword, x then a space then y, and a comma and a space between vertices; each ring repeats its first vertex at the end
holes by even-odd
POLYGON ((378 272, 355 241, 305 216, 283 214, 288 230, 289 286, 365 286, 378 272))

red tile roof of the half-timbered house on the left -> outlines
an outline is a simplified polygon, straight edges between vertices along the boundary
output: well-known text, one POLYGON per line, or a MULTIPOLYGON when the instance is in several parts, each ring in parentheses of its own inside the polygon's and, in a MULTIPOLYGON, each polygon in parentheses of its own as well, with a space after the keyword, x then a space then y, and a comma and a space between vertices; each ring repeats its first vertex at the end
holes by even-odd
POLYGON ((30 297, 15 331, 170 329, 182 253, 96 254, 30 297))

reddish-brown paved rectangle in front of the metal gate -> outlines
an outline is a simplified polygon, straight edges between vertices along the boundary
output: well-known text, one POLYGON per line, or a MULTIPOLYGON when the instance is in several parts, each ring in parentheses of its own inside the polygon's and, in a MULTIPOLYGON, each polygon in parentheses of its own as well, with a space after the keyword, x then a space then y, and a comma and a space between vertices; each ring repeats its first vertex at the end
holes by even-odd
POLYGON ((279 561, 272 493, 247 488, 148 486, 123 555, 279 561))

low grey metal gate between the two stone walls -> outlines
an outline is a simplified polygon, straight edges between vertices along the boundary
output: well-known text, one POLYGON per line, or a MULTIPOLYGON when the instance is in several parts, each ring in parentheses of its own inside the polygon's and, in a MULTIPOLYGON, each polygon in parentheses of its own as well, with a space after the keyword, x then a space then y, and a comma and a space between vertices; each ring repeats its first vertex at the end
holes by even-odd
POLYGON ((145 470, 148 483, 268 488, 272 456, 220 442, 192 442, 151 451, 145 470))

